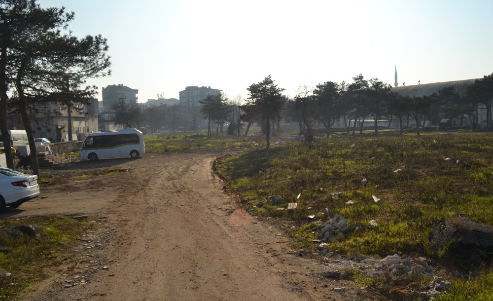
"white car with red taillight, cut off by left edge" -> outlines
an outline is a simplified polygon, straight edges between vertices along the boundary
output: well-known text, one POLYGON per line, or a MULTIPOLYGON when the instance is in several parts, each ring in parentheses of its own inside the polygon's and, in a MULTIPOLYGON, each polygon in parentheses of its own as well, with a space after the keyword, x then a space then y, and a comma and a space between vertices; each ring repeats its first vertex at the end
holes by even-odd
POLYGON ((39 195, 36 175, 26 175, 10 168, 0 167, 0 213, 5 207, 17 208, 39 195))

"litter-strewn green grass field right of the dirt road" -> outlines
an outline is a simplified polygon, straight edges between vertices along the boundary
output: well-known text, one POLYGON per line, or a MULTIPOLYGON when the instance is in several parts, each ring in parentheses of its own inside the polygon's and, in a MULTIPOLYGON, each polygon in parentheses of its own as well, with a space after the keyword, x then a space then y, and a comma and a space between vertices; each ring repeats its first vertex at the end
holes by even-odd
MULTIPOLYGON (((455 292, 467 287, 472 292, 481 283, 478 279, 492 279, 492 254, 478 259, 460 257, 448 248, 434 252, 429 241, 434 222, 458 213, 493 226, 492 133, 340 133, 315 143, 288 143, 224 157, 216 171, 253 214, 297 225, 289 234, 303 246, 313 247, 315 238, 308 215, 325 220, 337 213, 348 221, 349 233, 329 242, 330 250, 368 256, 400 251, 449 260, 463 272, 477 273, 455 284, 455 292), (271 195, 282 203, 255 206, 271 195), (373 195, 380 200, 375 202, 373 195), (350 200, 353 204, 347 203, 350 200), (295 210, 285 210, 294 202, 295 210)), ((493 296, 492 289, 484 294, 493 296)), ((444 300, 463 300, 450 298, 444 300)))

